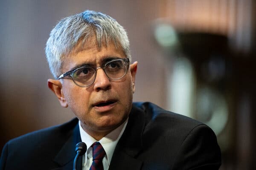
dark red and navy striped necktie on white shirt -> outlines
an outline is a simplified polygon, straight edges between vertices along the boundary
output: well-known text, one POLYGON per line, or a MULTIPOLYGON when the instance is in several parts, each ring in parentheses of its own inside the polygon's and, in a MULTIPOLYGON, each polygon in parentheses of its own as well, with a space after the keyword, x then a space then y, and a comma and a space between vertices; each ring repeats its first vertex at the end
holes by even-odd
POLYGON ((102 159, 105 156, 105 150, 99 142, 95 142, 93 147, 93 164, 90 170, 103 170, 102 159))

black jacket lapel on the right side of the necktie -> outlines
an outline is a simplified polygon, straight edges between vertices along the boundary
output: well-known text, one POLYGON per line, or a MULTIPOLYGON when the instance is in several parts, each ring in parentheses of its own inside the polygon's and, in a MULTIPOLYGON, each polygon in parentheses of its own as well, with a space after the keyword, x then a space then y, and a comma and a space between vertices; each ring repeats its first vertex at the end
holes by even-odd
POLYGON ((109 170, 140 170, 142 161, 136 156, 143 149, 142 133, 145 113, 133 106, 125 131, 116 145, 109 170))

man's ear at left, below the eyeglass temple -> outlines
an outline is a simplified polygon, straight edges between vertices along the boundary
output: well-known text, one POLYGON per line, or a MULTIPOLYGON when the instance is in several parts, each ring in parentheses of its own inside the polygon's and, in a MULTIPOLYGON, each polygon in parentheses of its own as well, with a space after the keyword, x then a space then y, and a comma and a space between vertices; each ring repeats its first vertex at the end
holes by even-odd
POLYGON ((62 93, 62 84, 59 80, 55 79, 48 79, 48 87, 51 89, 51 91, 58 97, 59 102, 61 103, 61 106, 64 108, 67 108, 67 101, 64 97, 64 94, 62 93))

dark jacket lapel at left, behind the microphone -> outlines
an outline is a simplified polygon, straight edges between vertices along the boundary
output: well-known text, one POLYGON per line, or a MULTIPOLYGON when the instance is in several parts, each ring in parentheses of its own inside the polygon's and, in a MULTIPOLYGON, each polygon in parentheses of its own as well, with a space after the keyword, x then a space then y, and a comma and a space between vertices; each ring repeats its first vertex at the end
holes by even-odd
MULTIPOLYGON (((72 130, 69 139, 62 146, 61 150, 55 156, 54 161, 57 162, 61 167, 54 170, 72 170, 73 160, 76 156, 75 147, 78 142, 81 142, 81 136, 79 132, 79 124, 76 121, 76 126, 72 130)), ((77 170, 81 170, 82 156, 79 156, 77 161, 77 170)))

